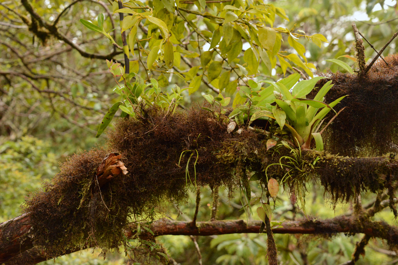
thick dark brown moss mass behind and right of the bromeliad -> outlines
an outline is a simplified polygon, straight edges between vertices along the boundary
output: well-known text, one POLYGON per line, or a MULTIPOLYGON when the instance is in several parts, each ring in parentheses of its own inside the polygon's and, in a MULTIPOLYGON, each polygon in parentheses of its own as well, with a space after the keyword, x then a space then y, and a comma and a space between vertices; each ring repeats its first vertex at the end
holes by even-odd
MULTIPOLYGON (((337 112, 348 108, 323 133, 328 151, 348 156, 380 156, 398 151, 398 55, 385 60, 389 66, 379 59, 366 76, 319 73, 334 84, 325 96, 326 103, 349 95, 334 107, 337 112)), ((328 80, 320 80, 317 87, 328 80)), ((333 115, 330 112, 329 119, 333 115)))

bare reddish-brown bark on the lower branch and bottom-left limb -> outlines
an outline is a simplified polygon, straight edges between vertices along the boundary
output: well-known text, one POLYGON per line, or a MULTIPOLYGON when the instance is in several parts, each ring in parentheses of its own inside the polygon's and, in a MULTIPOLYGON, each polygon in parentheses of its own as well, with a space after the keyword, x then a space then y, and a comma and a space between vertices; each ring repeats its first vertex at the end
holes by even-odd
MULTIPOLYGON (((14 218, 14 224, 8 227, 24 227, 25 233, 29 231, 28 225, 22 225, 20 219, 26 222, 26 216, 14 218), (19 219, 18 219, 19 218, 19 219), (27 229, 27 230, 26 230, 27 229)), ((191 222, 172 221, 168 219, 160 219, 152 223, 150 229, 154 235, 149 232, 141 233, 141 239, 151 239, 162 235, 193 235, 193 236, 210 236, 224 235, 235 233, 258 233, 261 221, 252 221, 248 223, 245 220, 216 220, 209 222, 197 222, 196 227, 191 226, 191 222)), ((3 224, 0 225, 0 237, 4 238, 3 224)), ((14 231, 15 229, 13 229, 14 231)), ((10 230, 8 230, 10 231, 10 230)), ((335 233, 363 233, 370 237, 377 237, 387 241, 389 245, 396 245, 398 242, 398 227, 390 226, 385 222, 371 221, 369 219, 360 218, 358 216, 338 216, 332 219, 316 220, 303 219, 298 221, 285 221, 281 226, 272 229, 274 234, 324 234, 331 235, 335 233)), ((132 238, 136 234, 135 225, 131 224, 126 230, 126 236, 132 238)), ((48 259, 79 251, 80 249, 67 250, 64 253, 46 253, 40 247, 33 247, 31 240, 23 240, 23 232, 18 236, 12 236, 14 242, 11 247, 4 246, 6 242, 1 241, 0 245, 0 263, 4 265, 33 265, 48 259), (19 246, 19 248, 16 248, 19 246), (24 252, 25 251, 25 252, 24 252)))

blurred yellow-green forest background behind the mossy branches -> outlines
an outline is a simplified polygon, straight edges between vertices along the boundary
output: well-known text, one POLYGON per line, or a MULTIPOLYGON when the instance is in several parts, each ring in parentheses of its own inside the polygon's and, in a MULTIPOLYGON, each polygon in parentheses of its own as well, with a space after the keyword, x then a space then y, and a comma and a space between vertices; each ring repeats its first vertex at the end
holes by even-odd
MULTIPOLYGON (((123 62, 123 54, 116 45, 112 46, 106 37, 89 30, 79 19, 93 21, 98 25, 97 17, 103 13, 107 18, 104 28, 109 31, 112 27, 118 27, 118 16, 112 14, 112 6, 108 2, 97 0, 73 2, 76 4, 68 8, 62 16, 60 16, 62 10, 72 2, 59 0, 30 2, 35 12, 45 21, 51 23, 59 19, 58 29, 62 33, 42 39, 40 34, 32 34, 32 28, 21 23, 21 18, 16 15, 16 13, 26 14, 26 6, 23 3, 19 1, 0 3, 0 222, 21 213, 19 206, 28 191, 41 187, 43 181, 53 177, 58 172, 59 162, 64 162, 68 156, 80 150, 102 146, 107 137, 105 133, 100 138, 95 136, 104 114, 117 101, 118 95, 113 92, 116 84, 112 74, 109 73, 105 59, 114 58, 118 62, 123 62), (114 21, 109 19, 109 14, 113 16, 114 21)), ((190 4, 189 1, 185 2, 190 4)), ((141 5, 152 7, 153 4, 153 1, 147 1, 141 5)), ((275 64, 268 62, 270 65, 262 61, 258 66, 258 76, 261 79, 277 81, 298 72, 297 69, 301 69, 299 72, 303 75, 315 72, 315 69, 345 72, 341 66, 325 60, 339 58, 355 68, 355 62, 352 61, 355 57, 352 22, 357 24, 359 31, 379 50, 395 33, 398 25, 396 1, 306 0, 300 4, 292 4, 291 1, 270 1, 266 4, 280 8, 279 14, 275 17, 274 27, 292 29, 292 32, 308 36, 322 34, 326 39, 319 37, 319 41, 314 41, 314 39, 298 38, 298 42, 305 47, 303 56, 306 62, 313 64, 313 67, 302 65, 302 60, 285 61, 282 58, 275 61, 275 64), (344 55, 347 57, 340 57, 344 55)), ((196 9, 201 8, 198 5, 196 9)), ((205 19, 196 15, 190 19, 199 29, 201 26, 209 27, 205 19)), ((213 28, 212 31, 214 30, 213 28)), ((145 32, 145 29, 139 32, 145 32)), ((122 46, 119 30, 110 34, 114 33, 117 37, 111 36, 119 46, 122 46)), ((203 34, 204 37, 213 36, 213 32, 210 31, 203 34)), ((140 38, 145 37, 140 36, 140 38)), ((205 44, 204 41, 199 46, 195 44, 200 40, 187 38, 184 41, 193 49, 199 47, 200 55, 207 52, 210 47, 210 44, 205 44)), ((152 44, 143 45, 142 49, 147 50, 149 54, 148 47, 152 44)), ((376 52, 369 47, 369 44, 364 45, 366 59, 372 59, 376 52)), ((250 47, 241 47, 243 51, 248 48, 250 47)), ((286 55, 299 54, 287 40, 281 43, 281 51, 285 51, 286 55)), ((395 53, 394 40, 383 55, 395 53)), ((194 61, 194 56, 179 58, 175 54, 174 65, 177 67, 175 72, 192 69, 190 62, 194 61)), ((181 54, 183 55, 184 51, 181 54)), ((139 65, 138 61, 135 62, 130 65, 132 69, 146 67, 139 65)), ((236 70, 244 72, 247 66, 242 67, 237 67, 236 70)), ((158 82, 162 82, 164 91, 172 93, 172 89, 175 88, 173 84, 179 84, 182 88, 188 87, 185 81, 180 80, 181 76, 178 74, 166 72, 161 74, 163 77, 158 79, 158 82)), ((195 79, 196 74, 194 73, 191 79, 195 79)), ((250 72, 246 74, 250 75, 250 72)), ((216 96, 215 91, 224 88, 206 81, 197 81, 194 88, 191 82, 190 87, 191 89, 182 92, 184 101, 181 105, 184 108, 189 108, 196 102, 202 103, 204 101, 202 95, 216 96)), ((225 97, 234 99, 235 91, 236 87, 229 89, 226 87, 223 93, 225 97)), ((119 115, 118 113, 116 116, 119 115)), ((328 198, 324 198, 323 191, 318 190, 316 186, 309 190, 309 194, 306 203, 308 215, 331 218, 353 209, 350 203, 338 204, 333 209, 328 198)), ((192 218, 195 198, 196 194, 192 192, 188 204, 181 206, 182 214, 177 215, 177 210, 170 210, 168 213, 170 217, 181 220, 192 218)), ((372 199, 374 199, 372 196, 365 196, 363 203, 366 204, 367 200, 372 201, 372 199)), ((247 213, 242 210, 239 198, 228 199, 227 191, 220 189, 219 200, 220 219, 246 219, 247 213)), ((202 189, 202 207, 198 217, 200 220, 210 218, 211 203, 211 191, 202 189)), ((287 193, 281 195, 275 214, 283 216, 282 219, 293 219, 296 215, 303 216, 303 212, 292 205, 287 193)), ((258 219, 251 215, 249 218, 258 219)), ((375 219, 397 224, 388 208, 379 212, 375 219)), ((261 234, 233 234, 198 237, 193 240, 189 236, 163 236, 159 241, 169 250, 170 256, 181 264, 198 263, 196 242, 200 246, 203 264, 262 264, 266 260, 264 237, 261 234)), ((330 240, 275 235, 284 264, 344 263, 351 260, 355 244, 360 238, 359 235, 341 234, 330 240), (309 242, 305 245, 303 241, 309 242)), ((103 260, 102 257, 98 257, 99 253, 98 249, 77 252, 56 259, 55 264, 120 264, 126 259, 124 255, 115 252, 108 254, 103 260)), ((43 264, 53 263, 47 261, 43 264)), ((358 261, 358 264, 397 263, 397 255, 386 250, 383 242, 377 239, 372 239, 367 248, 367 255, 358 261)))

